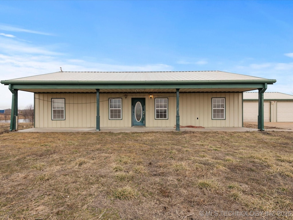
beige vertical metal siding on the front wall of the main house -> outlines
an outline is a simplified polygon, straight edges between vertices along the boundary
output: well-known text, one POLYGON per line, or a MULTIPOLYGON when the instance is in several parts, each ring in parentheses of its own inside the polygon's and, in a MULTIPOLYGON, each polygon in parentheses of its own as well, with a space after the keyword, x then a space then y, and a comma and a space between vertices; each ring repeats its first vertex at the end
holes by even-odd
MULTIPOLYGON (((145 98, 146 127, 176 125, 176 93, 100 93, 100 127, 131 127, 132 98, 145 98), (122 120, 109 120, 109 98, 122 99, 122 120), (155 98, 168 98, 168 119, 155 119, 155 98)), ((241 93, 180 93, 180 125, 241 127, 241 93), (212 120, 212 98, 225 98, 225 120, 212 120), (197 119, 198 118, 198 119, 197 119)), ((96 127, 95 93, 35 94, 35 127, 96 127), (51 99, 65 99, 65 120, 51 119, 51 99)))

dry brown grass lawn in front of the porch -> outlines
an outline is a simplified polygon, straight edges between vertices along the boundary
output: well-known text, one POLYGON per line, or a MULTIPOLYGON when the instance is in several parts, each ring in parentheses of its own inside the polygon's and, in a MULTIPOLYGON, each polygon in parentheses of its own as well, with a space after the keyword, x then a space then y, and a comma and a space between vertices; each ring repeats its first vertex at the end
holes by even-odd
POLYGON ((242 220, 263 217, 199 212, 292 212, 292 142, 291 132, 4 131, 0 219, 242 220))

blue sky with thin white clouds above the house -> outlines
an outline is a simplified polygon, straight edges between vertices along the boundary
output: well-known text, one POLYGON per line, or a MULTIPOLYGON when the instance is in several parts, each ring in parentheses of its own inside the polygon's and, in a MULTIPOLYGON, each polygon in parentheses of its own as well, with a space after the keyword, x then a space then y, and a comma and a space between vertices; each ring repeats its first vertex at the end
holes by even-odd
MULTIPOLYGON (((293 92, 293 1, 0 1, 0 80, 221 70, 293 92)), ((0 84, 0 108, 12 94, 0 84)), ((33 104, 19 92, 18 108, 33 104)))

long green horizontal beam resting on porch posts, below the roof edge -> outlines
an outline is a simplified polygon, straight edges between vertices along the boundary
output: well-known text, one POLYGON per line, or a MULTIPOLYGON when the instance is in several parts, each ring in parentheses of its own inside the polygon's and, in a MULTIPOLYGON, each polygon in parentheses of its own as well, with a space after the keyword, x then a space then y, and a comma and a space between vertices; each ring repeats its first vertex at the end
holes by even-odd
POLYGON ((265 83, 241 84, 11 84, 13 89, 205 89, 264 88, 265 83))

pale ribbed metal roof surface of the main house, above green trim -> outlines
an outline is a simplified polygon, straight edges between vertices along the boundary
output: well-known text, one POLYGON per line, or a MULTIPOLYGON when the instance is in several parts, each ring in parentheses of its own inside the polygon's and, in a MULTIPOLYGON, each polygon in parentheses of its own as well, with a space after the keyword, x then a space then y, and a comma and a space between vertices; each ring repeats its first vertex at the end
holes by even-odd
POLYGON ((264 78, 222 71, 182 72, 54 72, 8 81, 208 81, 263 80, 264 78))

